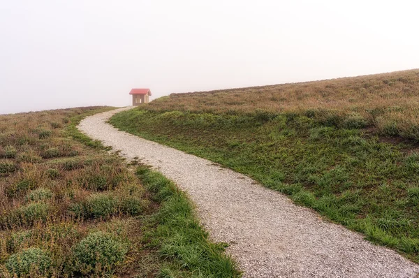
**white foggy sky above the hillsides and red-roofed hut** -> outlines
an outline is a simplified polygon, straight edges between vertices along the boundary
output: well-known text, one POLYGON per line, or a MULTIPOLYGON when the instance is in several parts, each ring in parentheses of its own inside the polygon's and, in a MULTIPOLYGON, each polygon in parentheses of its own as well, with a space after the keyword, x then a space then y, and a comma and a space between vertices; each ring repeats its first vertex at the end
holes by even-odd
POLYGON ((419 68, 419 1, 0 0, 0 114, 419 68))

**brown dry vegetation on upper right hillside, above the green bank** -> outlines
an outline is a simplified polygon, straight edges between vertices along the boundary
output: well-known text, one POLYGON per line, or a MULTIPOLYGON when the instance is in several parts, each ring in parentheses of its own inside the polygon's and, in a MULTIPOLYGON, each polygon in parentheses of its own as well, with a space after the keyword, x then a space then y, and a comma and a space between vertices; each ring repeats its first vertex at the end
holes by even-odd
MULTIPOLYGON (((361 122, 419 140, 419 70, 212 92, 170 94, 145 108, 212 113, 295 112, 321 122, 361 122)), ((362 124, 363 123, 363 124, 362 124)))

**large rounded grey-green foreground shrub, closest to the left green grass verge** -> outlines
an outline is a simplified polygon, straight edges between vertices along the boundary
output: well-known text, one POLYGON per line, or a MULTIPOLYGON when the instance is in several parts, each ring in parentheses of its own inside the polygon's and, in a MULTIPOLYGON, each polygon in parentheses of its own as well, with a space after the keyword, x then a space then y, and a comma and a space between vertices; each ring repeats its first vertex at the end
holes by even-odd
POLYGON ((87 235, 73 249, 75 271, 82 274, 110 272, 124 261, 128 244, 109 233, 87 235))

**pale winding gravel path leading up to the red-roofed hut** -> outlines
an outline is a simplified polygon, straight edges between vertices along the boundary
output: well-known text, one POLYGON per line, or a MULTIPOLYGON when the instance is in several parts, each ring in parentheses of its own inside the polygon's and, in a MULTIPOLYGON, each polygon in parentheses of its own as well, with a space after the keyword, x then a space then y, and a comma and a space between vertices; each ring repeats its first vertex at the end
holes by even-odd
POLYGON ((105 123, 126 109, 87 117, 78 128, 127 159, 138 156, 186 190, 212 240, 230 244, 244 277, 418 277, 419 265, 247 176, 105 123))

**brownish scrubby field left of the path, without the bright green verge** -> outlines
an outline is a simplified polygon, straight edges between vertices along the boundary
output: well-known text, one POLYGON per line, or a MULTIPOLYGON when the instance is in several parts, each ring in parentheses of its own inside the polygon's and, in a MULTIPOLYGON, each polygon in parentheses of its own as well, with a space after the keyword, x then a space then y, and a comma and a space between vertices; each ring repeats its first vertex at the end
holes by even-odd
POLYGON ((122 159, 68 132, 71 119, 98 109, 0 115, 0 277, 135 273, 147 193, 122 159), (102 264, 78 257, 94 252, 77 245, 89 235, 108 247, 102 264))

